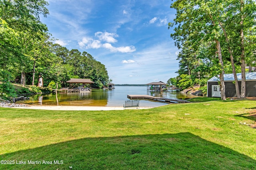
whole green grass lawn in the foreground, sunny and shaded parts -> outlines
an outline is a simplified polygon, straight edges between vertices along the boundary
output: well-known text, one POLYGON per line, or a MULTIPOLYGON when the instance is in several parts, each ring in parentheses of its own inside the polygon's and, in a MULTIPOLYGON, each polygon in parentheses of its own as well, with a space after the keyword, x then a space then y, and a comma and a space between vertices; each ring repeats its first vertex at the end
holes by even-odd
POLYGON ((255 170, 255 121, 253 100, 118 111, 0 107, 0 169, 255 170))

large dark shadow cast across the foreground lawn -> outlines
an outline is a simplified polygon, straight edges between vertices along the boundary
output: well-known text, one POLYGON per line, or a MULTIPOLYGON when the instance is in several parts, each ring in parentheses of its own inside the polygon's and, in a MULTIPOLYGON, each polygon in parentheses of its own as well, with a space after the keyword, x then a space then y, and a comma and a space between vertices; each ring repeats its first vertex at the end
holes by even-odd
POLYGON ((0 160, 15 161, 15 164, 0 164, 0 169, 16 170, 63 170, 69 166, 74 170, 256 168, 256 160, 249 156, 191 133, 84 138, 3 154, 0 160), (16 164, 21 160, 26 164, 16 164), (28 160, 41 164, 28 164, 28 160), (43 160, 52 164, 43 164, 43 160))

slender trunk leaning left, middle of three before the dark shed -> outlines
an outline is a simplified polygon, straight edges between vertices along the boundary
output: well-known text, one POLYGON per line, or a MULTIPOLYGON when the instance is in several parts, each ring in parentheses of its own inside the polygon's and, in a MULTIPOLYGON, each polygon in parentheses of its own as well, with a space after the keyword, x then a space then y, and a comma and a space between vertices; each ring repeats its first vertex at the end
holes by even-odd
POLYGON ((220 27, 222 28, 222 31, 224 33, 224 36, 226 38, 226 42, 228 43, 228 52, 230 54, 230 61, 231 61, 231 65, 232 65, 232 72, 234 74, 234 79, 235 79, 235 87, 236 87, 236 97, 238 99, 241 98, 240 96, 240 90, 239 90, 239 84, 238 84, 238 79, 237 79, 237 75, 236 75, 236 68, 235 68, 235 64, 234 64, 234 57, 233 57, 233 54, 232 54, 232 51, 230 49, 230 45, 229 45, 229 40, 228 40, 228 35, 226 33, 226 29, 223 27, 222 23, 220 22, 219 20, 219 24, 220 24, 220 27))

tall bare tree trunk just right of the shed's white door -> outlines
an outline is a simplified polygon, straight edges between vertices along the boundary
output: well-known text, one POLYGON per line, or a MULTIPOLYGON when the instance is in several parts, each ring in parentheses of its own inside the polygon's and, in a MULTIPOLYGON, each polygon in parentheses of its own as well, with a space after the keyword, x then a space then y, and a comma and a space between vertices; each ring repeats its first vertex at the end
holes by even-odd
POLYGON ((224 64, 222 61, 222 53, 221 53, 221 48, 220 48, 220 41, 215 40, 216 42, 216 48, 217 48, 217 54, 218 54, 218 59, 219 63, 221 65, 221 72, 220 72, 220 93, 221 93, 221 100, 226 100, 226 92, 225 92, 225 83, 224 83, 224 64))

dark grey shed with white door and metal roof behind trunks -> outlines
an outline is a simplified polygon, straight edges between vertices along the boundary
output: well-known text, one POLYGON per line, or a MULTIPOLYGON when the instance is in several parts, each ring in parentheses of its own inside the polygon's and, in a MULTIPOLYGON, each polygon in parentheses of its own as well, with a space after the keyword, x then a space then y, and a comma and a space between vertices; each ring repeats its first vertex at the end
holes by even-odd
MULTIPOLYGON (((241 91, 241 73, 237 73, 239 90, 241 91)), ((246 97, 256 96, 256 72, 246 72, 246 97)), ((234 74, 224 74, 225 92, 227 98, 236 97, 236 87, 234 82, 234 74)), ((212 77, 207 81, 207 96, 208 97, 221 97, 220 94, 220 78, 219 76, 212 77)))

